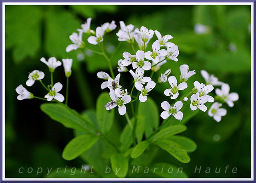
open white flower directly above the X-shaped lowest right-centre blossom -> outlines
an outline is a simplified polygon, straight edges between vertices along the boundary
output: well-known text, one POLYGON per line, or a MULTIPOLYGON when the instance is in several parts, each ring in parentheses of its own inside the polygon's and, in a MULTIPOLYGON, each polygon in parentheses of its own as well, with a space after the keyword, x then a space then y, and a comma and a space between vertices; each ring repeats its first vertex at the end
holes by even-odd
POLYGON ((171 99, 176 99, 179 96, 178 91, 185 90, 188 87, 187 83, 185 83, 185 82, 182 82, 182 83, 178 84, 178 86, 177 86, 177 79, 173 75, 168 78, 168 81, 169 81, 171 87, 170 87, 170 89, 169 88, 166 89, 164 93, 166 96, 171 95, 171 99))

